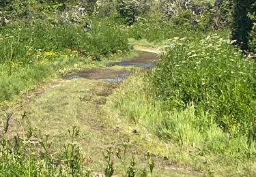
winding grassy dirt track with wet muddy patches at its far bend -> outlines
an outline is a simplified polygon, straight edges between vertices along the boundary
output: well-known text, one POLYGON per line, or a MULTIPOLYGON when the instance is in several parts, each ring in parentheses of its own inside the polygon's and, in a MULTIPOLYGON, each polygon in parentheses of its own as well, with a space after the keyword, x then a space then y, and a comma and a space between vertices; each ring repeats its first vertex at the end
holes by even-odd
POLYGON ((109 147, 117 150, 128 144, 124 162, 115 159, 115 174, 124 174, 124 166, 129 165, 132 156, 140 169, 147 167, 147 150, 150 150, 156 161, 155 176, 198 176, 195 170, 175 165, 163 155, 156 154, 154 150, 159 148, 158 142, 145 138, 150 137, 150 134, 141 135, 126 123, 113 123, 116 115, 104 110, 109 95, 134 70, 145 71, 156 65, 158 51, 141 50, 133 60, 87 69, 65 76, 50 87, 33 91, 34 95, 29 97, 22 108, 27 111, 29 125, 40 129, 42 133, 49 133, 55 142, 54 148, 61 148, 68 143, 68 129, 78 127, 81 136, 76 141, 87 156, 87 166, 94 169, 94 172, 101 173, 104 170, 102 151, 109 147))

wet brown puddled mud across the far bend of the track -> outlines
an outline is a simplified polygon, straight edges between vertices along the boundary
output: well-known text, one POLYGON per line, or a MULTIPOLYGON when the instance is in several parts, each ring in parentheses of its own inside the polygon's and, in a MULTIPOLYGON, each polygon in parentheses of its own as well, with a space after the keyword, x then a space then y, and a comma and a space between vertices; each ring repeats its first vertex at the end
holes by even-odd
MULTIPOLYGON (((152 52, 139 52, 138 57, 129 61, 109 63, 107 66, 142 67, 151 68, 156 65, 158 54, 152 52)), ((87 69, 76 74, 65 76, 65 79, 86 78, 91 80, 104 80, 106 82, 123 82, 130 76, 128 69, 114 70, 109 68, 87 69)))

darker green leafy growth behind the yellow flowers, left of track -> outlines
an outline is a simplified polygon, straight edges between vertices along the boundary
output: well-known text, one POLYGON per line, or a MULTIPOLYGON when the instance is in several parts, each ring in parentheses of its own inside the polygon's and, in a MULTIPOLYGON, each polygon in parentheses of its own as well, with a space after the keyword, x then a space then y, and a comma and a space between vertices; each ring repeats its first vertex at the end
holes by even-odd
POLYGON ((35 59, 37 52, 61 52, 70 48, 92 57, 128 50, 127 38, 122 31, 100 24, 91 33, 75 25, 51 27, 42 23, 33 27, 10 26, 2 30, 1 37, 1 62, 29 62, 35 59))

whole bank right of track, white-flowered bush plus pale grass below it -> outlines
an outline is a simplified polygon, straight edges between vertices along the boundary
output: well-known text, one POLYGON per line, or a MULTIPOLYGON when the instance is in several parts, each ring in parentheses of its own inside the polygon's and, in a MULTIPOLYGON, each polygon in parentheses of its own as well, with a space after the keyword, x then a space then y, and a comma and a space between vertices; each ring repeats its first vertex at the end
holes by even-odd
POLYGON ((236 159, 237 175, 255 173, 255 61, 232 46, 228 31, 179 34, 145 80, 127 81, 113 106, 165 142, 187 148, 191 158, 225 164, 217 174, 236 174, 229 165, 236 159))

